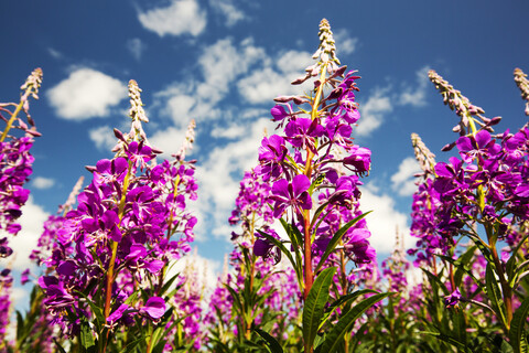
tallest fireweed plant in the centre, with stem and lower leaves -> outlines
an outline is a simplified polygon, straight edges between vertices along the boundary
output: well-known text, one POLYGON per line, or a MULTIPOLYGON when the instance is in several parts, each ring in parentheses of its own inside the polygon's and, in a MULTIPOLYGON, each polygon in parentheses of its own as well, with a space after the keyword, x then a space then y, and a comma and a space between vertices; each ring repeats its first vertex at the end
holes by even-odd
MULTIPOLYGON (((339 257, 339 253, 344 261, 366 264, 375 259, 375 252, 368 242, 370 233, 365 227, 353 228, 364 216, 357 212, 359 176, 370 169, 370 151, 354 145, 350 138, 353 125, 359 119, 355 103, 359 77, 339 66, 325 19, 320 23, 319 36, 320 46, 313 55, 316 63, 293 82, 299 85, 311 81, 312 88, 306 94, 274 99, 278 105, 271 115, 280 132, 262 139, 256 168, 256 173, 271 183, 272 216, 283 225, 290 249, 274 232, 258 229, 253 253, 276 256, 278 260, 284 255, 290 260, 303 293, 306 353, 314 346, 320 352, 342 350, 355 320, 388 296, 377 293, 350 307, 364 293, 356 291, 327 302, 337 269, 334 263, 325 266, 327 260, 339 257), (326 327, 328 330, 322 330, 328 332, 319 335, 338 307, 343 309, 339 319, 326 327)), ((271 350, 282 351, 268 333, 262 336, 271 350)))

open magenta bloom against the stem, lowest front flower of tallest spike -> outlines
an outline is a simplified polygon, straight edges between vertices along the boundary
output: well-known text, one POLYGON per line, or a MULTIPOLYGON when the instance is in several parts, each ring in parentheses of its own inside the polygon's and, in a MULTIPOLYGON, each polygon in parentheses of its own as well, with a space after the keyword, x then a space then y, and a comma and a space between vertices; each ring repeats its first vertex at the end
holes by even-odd
POLYGON ((273 216, 281 217, 284 210, 289 206, 298 207, 298 210, 311 210, 312 199, 307 190, 311 186, 311 181, 306 175, 295 175, 292 182, 287 179, 281 179, 272 185, 271 199, 276 201, 273 206, 273 216))

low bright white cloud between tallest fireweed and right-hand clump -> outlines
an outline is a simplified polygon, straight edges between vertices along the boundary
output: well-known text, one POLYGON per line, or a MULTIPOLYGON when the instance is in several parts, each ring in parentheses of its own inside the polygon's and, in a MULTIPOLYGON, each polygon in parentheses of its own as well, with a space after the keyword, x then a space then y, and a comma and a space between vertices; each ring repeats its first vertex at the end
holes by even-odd
POLYGON ((367 226, 371 232, 369 242, 377 254, 389 254, 395 247, 397 229, 404 233, 404 248, 414 245, 409 235, 408 217, 396 210, 395 200, 387 194, 378 194, 370 185, 361 189, 360 208, 373 211, 366 216, 367 226))

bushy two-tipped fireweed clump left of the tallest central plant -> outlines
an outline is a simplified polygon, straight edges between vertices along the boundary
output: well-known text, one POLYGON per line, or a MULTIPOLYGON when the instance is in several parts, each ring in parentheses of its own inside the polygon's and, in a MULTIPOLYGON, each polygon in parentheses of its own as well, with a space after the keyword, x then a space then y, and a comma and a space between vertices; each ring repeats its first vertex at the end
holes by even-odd
POLYGON ((115 130, 116 156, 87 167, 93 181, 61 221, 39 278, 42 302, 73 339, 72 351, 160 351, 183 319, 168 308, 176 276, 164 275, 193 240, 196 218, 185 207, 196 199, 194 161, 184 160, 184 147, 173 161, 156 163, 134 81, 129 96, 130 132, 115 130))

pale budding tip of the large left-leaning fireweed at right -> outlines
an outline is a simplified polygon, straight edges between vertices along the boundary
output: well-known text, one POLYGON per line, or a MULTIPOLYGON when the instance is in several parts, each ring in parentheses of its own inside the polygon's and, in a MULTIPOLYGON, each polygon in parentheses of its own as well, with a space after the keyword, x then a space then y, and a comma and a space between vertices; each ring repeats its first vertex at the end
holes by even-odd
MULTIPOLYGON (((455 114, 461 117, 460 124, 454 126, 453 128, 454 132, 458 132, 460 136, 475 133, 475 124, 478 124, 482 129, 486 129, 490 132, 494 131, 490 126, 498 124, 501 119, 500 117, 488 119, 482 116, 485 110, 483 110, 478 106, 473 105, 468 100, 468 98, 463 96, 460 90, 455 89, 452 85, 449 84, 447 81, 441 77, 441 75, 439 75, 433 69, 428 73, 428 77, 443 96, 444 104, 446 104, 452 110, 455 110, 455 114), (476 117, 478 119, 476 119, 476 117)), ((449 145, 447 147, 443 148, 443 150, 450 150, 453 147, 454 143, 449 145)))

